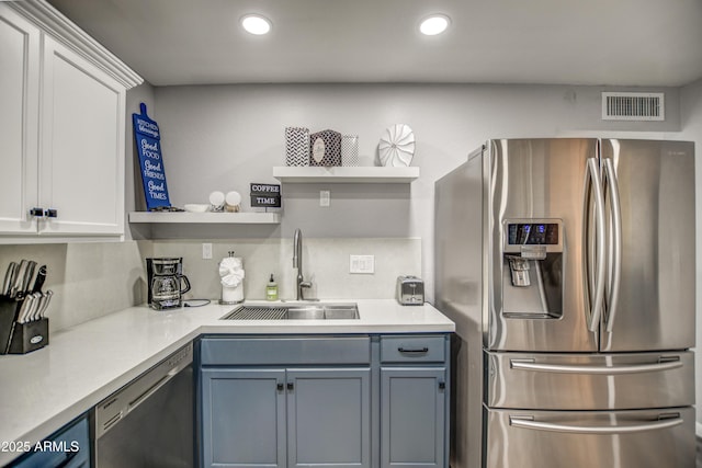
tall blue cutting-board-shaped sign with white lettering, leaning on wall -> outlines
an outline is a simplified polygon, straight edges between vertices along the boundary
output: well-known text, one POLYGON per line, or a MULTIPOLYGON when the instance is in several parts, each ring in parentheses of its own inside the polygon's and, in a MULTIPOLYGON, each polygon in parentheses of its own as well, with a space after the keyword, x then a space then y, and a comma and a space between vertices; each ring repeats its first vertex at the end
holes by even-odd
POLYGON ((141 114, 132 114, 132 119, 136 149, 139 153, 146 208, 152 210, 159 207, 170 207, 158 124, 146 115, 146 104, 141 103, 139 109, 141 114))

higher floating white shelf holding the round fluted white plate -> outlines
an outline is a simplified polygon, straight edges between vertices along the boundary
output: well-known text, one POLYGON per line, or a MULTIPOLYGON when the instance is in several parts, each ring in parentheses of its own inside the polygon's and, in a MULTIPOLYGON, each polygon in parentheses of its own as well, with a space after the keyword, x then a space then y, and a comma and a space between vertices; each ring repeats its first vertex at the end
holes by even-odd
POLYGON ((273 168, 273 176, 284 183, 410 183, 419 178, 419 168, 381 167, 292 167, 273 168))

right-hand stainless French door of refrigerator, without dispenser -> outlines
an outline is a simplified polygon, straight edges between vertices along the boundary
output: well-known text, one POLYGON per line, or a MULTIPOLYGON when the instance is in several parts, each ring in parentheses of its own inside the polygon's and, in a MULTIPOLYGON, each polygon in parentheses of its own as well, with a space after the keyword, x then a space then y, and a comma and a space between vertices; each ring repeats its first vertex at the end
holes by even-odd
POLYGON ((621 209, 619 227, 616 216, 607 216, 601 351, 693 347, 694 145, 604 139, 601 156, 607 210, 614 213, 616 202, 621 209), (608 167, 615 185, 608 183, 608 167))

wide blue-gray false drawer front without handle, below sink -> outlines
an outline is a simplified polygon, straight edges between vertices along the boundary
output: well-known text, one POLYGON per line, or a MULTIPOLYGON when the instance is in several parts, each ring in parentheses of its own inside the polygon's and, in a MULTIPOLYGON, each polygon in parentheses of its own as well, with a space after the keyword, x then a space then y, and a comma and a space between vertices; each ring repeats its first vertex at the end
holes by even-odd
POLYGON ((369 336, 205 338, 203 365, 367 364, 369 336))

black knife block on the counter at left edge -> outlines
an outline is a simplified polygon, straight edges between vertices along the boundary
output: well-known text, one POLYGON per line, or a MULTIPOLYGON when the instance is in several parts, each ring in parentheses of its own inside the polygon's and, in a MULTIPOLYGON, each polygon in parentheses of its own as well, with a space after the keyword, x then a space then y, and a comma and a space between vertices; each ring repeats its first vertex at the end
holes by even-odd
POLYGON ((0 296, 0 354, 26 354, 48 344, 48 319, 15 322, 22 300, 0 296))

